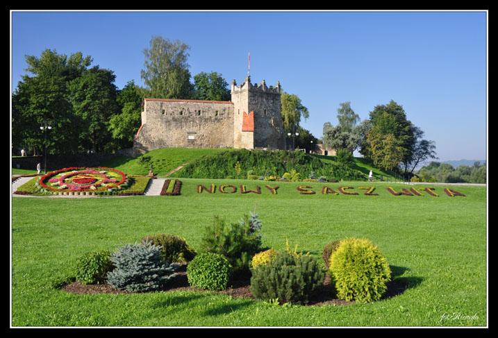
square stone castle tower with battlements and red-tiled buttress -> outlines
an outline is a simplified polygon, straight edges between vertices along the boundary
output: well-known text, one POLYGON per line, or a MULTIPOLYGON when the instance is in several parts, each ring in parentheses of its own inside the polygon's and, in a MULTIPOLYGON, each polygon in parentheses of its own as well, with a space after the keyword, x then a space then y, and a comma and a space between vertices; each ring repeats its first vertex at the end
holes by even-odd
POLYGON ((250 76, 237 86, 232 81, 234 148, 285 149, 281 116, 281 86, 251 84, 250 76))

